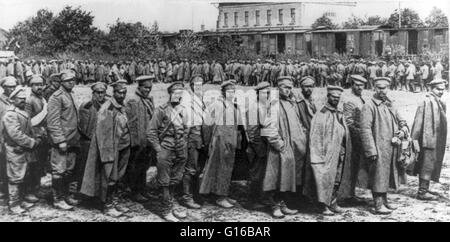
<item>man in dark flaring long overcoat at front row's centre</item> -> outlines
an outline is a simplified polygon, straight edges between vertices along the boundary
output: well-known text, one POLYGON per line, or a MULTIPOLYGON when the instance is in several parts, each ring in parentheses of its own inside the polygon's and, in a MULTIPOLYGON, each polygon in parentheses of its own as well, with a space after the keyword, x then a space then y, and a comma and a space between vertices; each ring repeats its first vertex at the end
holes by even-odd
POLYGON ((199 191, 218 196, 216 204, 223 208, 234 207, 235 200, 229 198, 231 177, 237 150, 245 150, 246 143, 242 115, 234 102, 235 85, 235 80, 222 83, 222 96, 210 106, 211 141, 199 191))

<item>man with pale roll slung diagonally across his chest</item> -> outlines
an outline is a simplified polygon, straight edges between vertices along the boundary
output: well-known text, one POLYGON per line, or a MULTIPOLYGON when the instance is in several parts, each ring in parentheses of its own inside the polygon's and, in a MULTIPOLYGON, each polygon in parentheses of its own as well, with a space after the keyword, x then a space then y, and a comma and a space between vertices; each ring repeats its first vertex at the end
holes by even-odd
POLYGON ((33 133, 42 138, 41 145, 34 151, 36 161, 30 163, 30 172, 27 179, 27 202, 35 203, 39 199, 36 197, 41 185, 41 178, 45 176, 46 169, 49 168, 48 155, 49 144, 47 142, 47 101, 43 97, 44 79, 40 75, 35 75, 29 82, 31 94, 26 100, 25 111, 31 119, 33 133))

